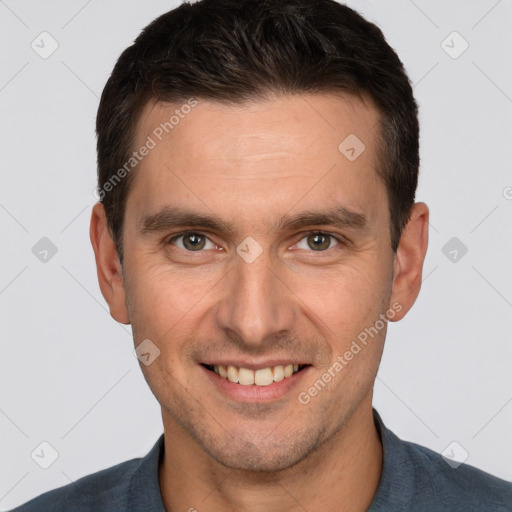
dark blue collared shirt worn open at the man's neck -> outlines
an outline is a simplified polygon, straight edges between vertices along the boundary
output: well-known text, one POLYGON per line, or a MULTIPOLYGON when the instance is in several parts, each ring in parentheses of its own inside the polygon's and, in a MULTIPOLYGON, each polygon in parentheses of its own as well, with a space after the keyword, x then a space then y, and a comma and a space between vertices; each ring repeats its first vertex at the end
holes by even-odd
MULTIPOLYGON (((511 482, 467 464, 453 468, 433 450, 399 439, 375 409, 373 417, 383 468, 368 512, 512 511, 511 482)), ((11 512, 166 512, 158 483, 163 453, 162 435, 144 458, 48 491, 11 512)), ((195 507, 204 509, 200 503, 195 507)))

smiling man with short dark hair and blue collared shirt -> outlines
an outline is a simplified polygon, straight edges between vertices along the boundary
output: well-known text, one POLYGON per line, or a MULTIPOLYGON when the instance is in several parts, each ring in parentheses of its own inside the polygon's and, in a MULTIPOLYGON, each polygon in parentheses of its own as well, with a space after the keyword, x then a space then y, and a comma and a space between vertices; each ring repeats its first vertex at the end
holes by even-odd
POLYGON ((429 216, 376 26, 333 0, 183 4, 121 55, 97 133, 98 279, 164 434, 16 510, 512 510, 512 484, 372 408, 429 216))

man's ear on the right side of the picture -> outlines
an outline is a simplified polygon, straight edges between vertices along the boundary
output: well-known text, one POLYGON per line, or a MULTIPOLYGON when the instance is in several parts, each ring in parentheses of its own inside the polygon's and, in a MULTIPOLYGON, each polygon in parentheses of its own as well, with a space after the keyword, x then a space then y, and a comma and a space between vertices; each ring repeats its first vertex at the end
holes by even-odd
POLYGON ((420 292, 423 262, 428 247, 428 218, 428 206, 425 203, 416 203, 412 207, 409 222, 402 231, 393 261, 390 302, 400 304, 402 309, 393 317, 393 322, 401 320, 407 314, 420 292))

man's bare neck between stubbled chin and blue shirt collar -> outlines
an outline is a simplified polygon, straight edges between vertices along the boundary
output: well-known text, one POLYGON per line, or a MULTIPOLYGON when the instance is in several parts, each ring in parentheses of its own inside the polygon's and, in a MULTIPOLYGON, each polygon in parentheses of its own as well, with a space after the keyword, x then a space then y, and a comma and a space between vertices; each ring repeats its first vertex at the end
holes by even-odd
POLYGON ((364 511, 377 492, 382 471, 371 397, 315 452, 275 473, 227 468, 165 419, 164 437, 159 481, 168 512, 364 511))

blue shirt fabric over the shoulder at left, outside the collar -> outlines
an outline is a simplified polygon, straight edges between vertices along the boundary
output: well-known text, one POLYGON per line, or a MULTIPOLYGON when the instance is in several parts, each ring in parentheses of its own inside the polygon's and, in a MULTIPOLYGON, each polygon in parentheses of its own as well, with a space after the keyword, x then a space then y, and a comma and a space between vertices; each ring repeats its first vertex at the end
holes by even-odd
POLYGON ((130 480, 141 459, 132 459, 53 489, 11 512, 127 510, 130 480))

